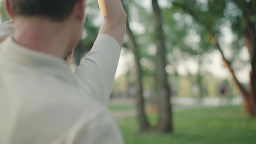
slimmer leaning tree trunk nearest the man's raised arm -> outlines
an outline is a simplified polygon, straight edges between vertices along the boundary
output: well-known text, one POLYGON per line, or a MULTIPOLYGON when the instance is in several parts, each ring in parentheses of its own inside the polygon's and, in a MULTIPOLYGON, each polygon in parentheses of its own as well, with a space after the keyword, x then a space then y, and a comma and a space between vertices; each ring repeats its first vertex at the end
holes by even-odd
POLYGON ((145 104, 143 98, 143 86, 142 86, 142 69, 140 64, 140 52, 138 50, 138 43, 135 39, 134 34, 131 31, 129 22, 127 20, 127 29, 126 33, 129 37, 128 48, 134 54, 135 61, 135 87, 136 87, 136 105, 137 105, 137 115, 138 115, 138 124, 139 131, 144 132, 148 131, 151 126, 148 122, 147 115, 145 113, 145 104))

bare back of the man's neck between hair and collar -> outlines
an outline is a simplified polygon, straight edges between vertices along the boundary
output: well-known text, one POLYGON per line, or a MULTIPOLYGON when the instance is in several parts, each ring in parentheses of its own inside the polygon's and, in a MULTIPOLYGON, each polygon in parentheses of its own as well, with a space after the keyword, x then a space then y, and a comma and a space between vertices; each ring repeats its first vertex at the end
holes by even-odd
POLYGON ((17 18, 14 23, 16 43, 48 55, 65 57, 69 32, 65 24, 42 18, 17 18))

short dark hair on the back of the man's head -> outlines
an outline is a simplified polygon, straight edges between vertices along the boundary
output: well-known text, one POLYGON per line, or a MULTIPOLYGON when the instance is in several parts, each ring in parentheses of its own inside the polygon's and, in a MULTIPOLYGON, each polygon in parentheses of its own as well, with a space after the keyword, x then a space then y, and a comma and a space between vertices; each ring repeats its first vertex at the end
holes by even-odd
POLYGON ((14 16, 41 16, 65 20, 79 0, 10 0, 14 16))

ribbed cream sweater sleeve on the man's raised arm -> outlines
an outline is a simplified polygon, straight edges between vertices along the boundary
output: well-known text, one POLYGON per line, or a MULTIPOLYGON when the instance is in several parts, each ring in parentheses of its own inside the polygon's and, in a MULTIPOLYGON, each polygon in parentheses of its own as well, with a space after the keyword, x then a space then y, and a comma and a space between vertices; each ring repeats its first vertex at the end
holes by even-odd
POLYGON ((86 93, 106 105, 111 94, 121 48, 109 35, 100 34, 75 71, 86 93))

